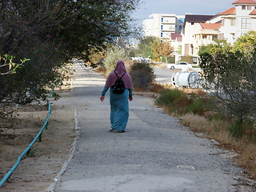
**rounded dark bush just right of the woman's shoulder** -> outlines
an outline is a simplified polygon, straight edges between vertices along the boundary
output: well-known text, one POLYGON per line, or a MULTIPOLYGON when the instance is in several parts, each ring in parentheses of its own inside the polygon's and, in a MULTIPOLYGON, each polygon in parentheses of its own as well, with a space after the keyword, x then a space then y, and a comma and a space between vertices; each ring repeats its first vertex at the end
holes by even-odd
POLYGON ((154 68, 148 63, 135 62, 130 67, 130 77, 135 88, 143 88, 146 91, 150 82, 154 81, 154 68))

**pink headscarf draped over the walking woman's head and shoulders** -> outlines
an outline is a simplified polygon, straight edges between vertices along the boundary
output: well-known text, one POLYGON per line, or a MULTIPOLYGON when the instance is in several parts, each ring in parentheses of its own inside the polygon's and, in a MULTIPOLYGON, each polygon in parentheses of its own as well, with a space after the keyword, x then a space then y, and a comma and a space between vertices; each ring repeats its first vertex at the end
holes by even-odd
MULTIPOLYGON (((118 79, 117 75, 114 74, 114 71, 118 74, 118 77, 121 78, 122 74, 126 72, 126 66, 125 62, 122 61, 121 59, 118 60, 117 66, 113 71, 110 72, 109 76, 106 78, 106 87, 111 87, 114 85, 114 82, 118 79)), ((130 78, 130 74, 126 72, 126 74, 122 77, 122 81, 125 84, 126 89, 132 89, 133 88, 133 83, 130 78)))

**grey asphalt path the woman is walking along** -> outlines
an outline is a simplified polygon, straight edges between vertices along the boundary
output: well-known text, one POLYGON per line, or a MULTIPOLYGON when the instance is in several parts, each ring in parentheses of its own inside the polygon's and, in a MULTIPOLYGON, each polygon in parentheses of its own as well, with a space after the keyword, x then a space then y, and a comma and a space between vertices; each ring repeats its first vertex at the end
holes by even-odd
POLYGON ((105 79, 74 67, 80 137, 54 191, 235 191, 240 170, 213 142, 154 107, 152 98, 134 95, 126 133, 109 132, 109 94, 99 100, 105 79))

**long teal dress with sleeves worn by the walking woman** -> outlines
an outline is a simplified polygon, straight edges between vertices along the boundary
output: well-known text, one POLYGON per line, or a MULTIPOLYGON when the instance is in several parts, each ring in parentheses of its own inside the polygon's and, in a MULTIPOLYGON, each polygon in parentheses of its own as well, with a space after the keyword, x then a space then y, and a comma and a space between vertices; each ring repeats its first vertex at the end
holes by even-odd
MULTIPOLYGON (((108 87, 104 87, 102 96, 105 96, 108 87)), ((129 118, 128 95, 132 97, 132 89, 125 89, 123 94, 114 94, 110 88, 110 122, 113 130, 126 130, 129 118)))

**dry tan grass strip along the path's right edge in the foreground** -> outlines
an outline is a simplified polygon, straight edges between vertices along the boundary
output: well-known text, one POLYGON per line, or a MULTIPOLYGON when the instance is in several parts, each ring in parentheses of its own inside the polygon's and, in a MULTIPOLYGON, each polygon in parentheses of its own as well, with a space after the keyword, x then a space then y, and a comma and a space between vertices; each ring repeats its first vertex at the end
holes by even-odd
POLYGON ((256 144, 250 138, 231 138, 228 130, 230 122, 223 120, 209 121, 194 114, 182 115, 182 124, 189 126, 190 130, 205 133, 206 138, 214 139, 219 146, 234 150, 239 155, 238 166, 248 171, 248 178, 256 179, 256 144))

